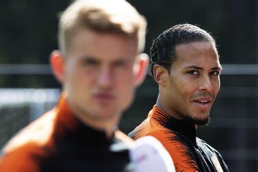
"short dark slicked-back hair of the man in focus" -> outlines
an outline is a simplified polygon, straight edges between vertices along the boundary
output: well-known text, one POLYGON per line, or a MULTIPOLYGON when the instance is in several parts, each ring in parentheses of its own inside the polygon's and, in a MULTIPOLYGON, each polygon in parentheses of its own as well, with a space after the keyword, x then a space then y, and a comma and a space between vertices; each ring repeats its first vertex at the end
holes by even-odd
POLYGON ((164 66, 170 72, 173 62, 177 60, 176 46, 198 41, 208 41, 216 45, 214 38, 210 34, 195 25, 175 25, 164 31, 153 41, 151 46, 150 75, 153 76, 155 64, 164 66))

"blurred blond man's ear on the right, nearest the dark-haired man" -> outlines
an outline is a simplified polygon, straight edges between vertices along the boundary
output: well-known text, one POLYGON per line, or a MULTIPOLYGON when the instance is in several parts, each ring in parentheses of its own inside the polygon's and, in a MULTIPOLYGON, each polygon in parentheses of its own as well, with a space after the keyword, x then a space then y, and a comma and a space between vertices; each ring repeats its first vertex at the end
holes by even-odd
POLYGON ((149 56, 141 53, 136 57, 136 86, 140 86, 146 77, 149 66, 149 56))

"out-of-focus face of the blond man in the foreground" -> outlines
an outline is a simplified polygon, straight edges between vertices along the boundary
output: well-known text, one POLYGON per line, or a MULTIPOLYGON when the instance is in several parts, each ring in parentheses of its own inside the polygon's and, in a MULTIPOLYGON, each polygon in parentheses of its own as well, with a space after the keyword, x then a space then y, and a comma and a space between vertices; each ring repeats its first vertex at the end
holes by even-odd
POLYGON ((70 45, 64 89, 71 108, 91 120, 119 118, 134 96, 136 40, 81 29, 70 45))

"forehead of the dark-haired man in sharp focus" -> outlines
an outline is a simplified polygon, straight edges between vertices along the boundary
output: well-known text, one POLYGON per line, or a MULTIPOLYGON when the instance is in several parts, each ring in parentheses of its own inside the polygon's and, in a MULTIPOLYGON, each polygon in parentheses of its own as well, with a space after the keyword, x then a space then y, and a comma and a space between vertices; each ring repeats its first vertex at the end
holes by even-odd
POLYGON ((172 66, 220 66, 218 51, 213 42, 201 41, 177 45, 177 60, 172 66))

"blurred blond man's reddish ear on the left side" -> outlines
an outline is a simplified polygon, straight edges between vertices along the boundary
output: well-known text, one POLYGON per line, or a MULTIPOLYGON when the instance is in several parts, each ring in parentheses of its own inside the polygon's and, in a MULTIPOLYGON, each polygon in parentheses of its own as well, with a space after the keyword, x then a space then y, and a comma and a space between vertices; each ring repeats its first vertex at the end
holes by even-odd
POLYGON ((52 51, 49 58, 51 68, 58 82, 64 82, 64 58, 58 50, 52 51))

